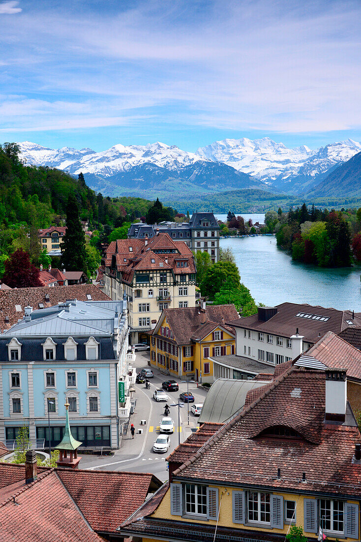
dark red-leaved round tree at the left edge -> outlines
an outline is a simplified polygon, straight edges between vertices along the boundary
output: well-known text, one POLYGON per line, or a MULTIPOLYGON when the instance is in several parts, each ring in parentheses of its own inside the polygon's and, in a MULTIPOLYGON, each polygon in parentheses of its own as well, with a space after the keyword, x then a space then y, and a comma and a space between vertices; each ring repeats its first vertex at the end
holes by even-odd
POLYGON ((22 248, 18 248, 5 261, 3 282, 10 288, 29 288, 42 286, 39 270, 30 261, 30 256, 22 248))

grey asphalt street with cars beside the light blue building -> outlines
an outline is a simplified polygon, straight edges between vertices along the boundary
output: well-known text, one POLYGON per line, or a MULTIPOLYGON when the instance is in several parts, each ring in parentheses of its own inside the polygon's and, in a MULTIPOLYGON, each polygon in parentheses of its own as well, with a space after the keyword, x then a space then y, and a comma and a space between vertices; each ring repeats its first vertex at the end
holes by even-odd
MULTIPOLYGON (((135 366, 137 372, 148 366, 149 351, 137 352, 135 366)), ((123 436, 120 450, 116 450, 114 456, 99 456, 93 454, 83 454, 80 468, 83 469, 101 469, 101 470, 134 470, 135 472, 149 472, 156 475, 160 480, 165 481, 168 478, 167 463, 165 458, 178 446, 178 442, 186 440, 192 430, 198 428, 198 417, 191 412, 192 403, 183 404, 178 409, 179 394, 187 391, 187 383, 181 382, 178 378, 163 375, 157 369, 152 367, 154 378, 149 379, 150 390, 146 389, 145 384, 135 384, 136 392, 133 398, 136 398, 136 408, 133 415, 130 416, 130 423, 134 424, 136 433, 132 440, 130 434, 130 424, 127 435, 123 436), (154 390, 162 387, 162 382, 168 379, 174 379, 179 384, 179 391, 168 393, 168 405, 170 406, 169 416, 174 421, 174 433, 170 435, 170 447, 166 453, 158 454, 153 451, 153 443, 159 435, 157 427, 161 418, 164 416, 164 407, 166 403, 156 402, 153 398, 154 390), (175 406, 172 406, 176 404, 175 406), (188 425, 188 406, 189 406, 189 425, 188 425), (178 411, 180 414, 180 423, 178 423, 178 411), (146 425, 141 425, 141 420, 146 420, 146 425), (143 433, 137 431, 143 429, 143 433)), ((195 403, 204 403, 207 392, 204 389, 197 388, 196 383, 188 384, 189 392, 194 395, 195 403)))

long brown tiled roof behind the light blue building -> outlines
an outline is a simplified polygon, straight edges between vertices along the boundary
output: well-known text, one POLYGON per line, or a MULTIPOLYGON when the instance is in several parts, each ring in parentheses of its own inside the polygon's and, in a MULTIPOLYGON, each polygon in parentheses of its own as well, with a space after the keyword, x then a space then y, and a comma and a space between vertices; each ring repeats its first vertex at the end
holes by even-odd
POLYGON ((24 316, 24 307, 29 305, 34 310, 42 303, 45 307, 52 307, 67 299, 87 301, 87 294, 93 301, 109 301, 110 298, 93 284, 74 286, 59 286, 49 288, 41 286, 37 288, 14 288, 12 290, 0 290, 0 329, 8 330, 16 324, 18 319, 24 316), (45 295, 49 301, 45 301, 45 295), (6 321, 6 317, 9 321, 6 321))

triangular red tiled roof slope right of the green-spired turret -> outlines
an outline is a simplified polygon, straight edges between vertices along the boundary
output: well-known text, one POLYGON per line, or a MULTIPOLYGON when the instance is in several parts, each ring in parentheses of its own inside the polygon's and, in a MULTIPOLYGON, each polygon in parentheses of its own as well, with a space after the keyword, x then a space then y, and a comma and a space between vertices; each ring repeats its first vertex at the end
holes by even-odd
POLYGON ((146 499, 153 474, 57 469, 71 497, 97 532, 114 532, 146 499))

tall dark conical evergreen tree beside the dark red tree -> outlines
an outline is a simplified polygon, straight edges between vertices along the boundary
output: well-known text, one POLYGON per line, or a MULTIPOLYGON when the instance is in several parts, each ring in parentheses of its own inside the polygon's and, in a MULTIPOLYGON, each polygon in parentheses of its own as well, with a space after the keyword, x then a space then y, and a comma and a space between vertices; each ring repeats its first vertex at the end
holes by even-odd
POLYGON ((70 194, 67 205, 67 229, 61 245, 61 266, 67 271, 87 273, 85 236, 80 223, 79 208, 74 194, 70 194))

